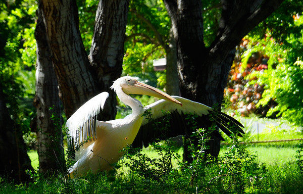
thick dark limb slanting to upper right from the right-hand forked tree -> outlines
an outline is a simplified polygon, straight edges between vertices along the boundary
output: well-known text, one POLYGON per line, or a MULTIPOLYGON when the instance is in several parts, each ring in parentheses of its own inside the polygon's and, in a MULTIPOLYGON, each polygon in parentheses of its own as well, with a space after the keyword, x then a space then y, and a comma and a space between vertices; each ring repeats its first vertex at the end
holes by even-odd
POLYGON ((227 1, 222 0, 222 14, 217 37, 210 46, 210 55, 215 60, 225 59, 226 53, 233 49, 240 40, 260 22, 269 17, 283 0, 227 1), (219 56, 219 57, 218 57, 219 56))

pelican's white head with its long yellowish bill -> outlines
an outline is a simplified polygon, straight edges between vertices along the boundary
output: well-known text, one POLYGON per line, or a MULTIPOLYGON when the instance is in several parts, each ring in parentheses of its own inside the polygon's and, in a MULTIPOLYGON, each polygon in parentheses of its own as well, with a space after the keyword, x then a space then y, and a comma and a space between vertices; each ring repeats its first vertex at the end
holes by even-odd
POLYGON ((124 76, 120 77, 114 84, 111 86, 111 89, 118 91, 119 88, 122 88, 123 92, 126 94, 143 94, 143 95, 150 95, 156 98, 164 99, 167 101, 171 101, 177 103, 182 106, 182 103, 177 101, 176 99, 172 98, 172 96, 168 95, 167 93, 153 87, 147 85, 145 83, 139 82, 133 77, 124 76))

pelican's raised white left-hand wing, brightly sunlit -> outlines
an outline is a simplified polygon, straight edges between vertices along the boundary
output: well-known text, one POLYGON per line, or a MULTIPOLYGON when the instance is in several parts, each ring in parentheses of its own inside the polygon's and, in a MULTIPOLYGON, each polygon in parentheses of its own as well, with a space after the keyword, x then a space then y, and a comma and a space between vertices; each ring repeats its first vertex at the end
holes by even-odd
POLYGON ((108 92, 102 92, 82 105, 66 122, 69 147, 77 151, 88 139, 96 139, 96 121, 108 92))

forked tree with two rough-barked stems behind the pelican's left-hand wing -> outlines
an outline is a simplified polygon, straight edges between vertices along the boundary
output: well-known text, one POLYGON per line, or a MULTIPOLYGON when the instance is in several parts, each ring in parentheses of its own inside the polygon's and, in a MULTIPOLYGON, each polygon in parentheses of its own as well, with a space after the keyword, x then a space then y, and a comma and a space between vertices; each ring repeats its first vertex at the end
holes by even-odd
POLYGON ((68 118, 102 91, 109 91, 110 97, 105 105, 106 112, 100 119, 115 118, 116 96, 109 87, 122 71, 128 3, 99 2, 88 60, 78 28, 76 2, 42 1, 43 21, 68 118))

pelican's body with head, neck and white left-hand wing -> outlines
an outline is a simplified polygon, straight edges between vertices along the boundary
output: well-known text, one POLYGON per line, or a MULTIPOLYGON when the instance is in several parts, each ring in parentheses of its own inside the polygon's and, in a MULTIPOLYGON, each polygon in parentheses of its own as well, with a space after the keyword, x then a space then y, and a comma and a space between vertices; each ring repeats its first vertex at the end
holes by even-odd
POLYGON ((75 160, 77 160, 77 162, 69 169, 69 173, 72 177, 83 175, 89 170, 93 173, 111 170, 113 168, 112 165, 122 157, 123 152, 121 151, 123 148, 126 148, 127 145, 131 145, 135 139, 143 120, 142 113, 144 109, 141 102, 129 96, 127 94, 128 92, 134 94, 141 94, 143 92, 174 103, 179 103, 168 94, 138 82, 136 79, 129 76, 117 79, 111 88, 116 91, 118 98, 124 104, 130 106, 132 114, 123 119, 107 122, 96 121, 96 139, 94 139, 94 141, 85 142, 82 146, 80 143, 84 142, 87 138, 85 138, 83 134, 77 136, 79 127, 80 130, 85 130, 84 133, 87 134, 87 130, 91 129, 88 129, 89 127, 87 127, 87 125, 85 126, 83 123, 89 120, 87 117, 92 116, 91 112, 94 112, 93 115, 97 112, 96 110, 87 110, 87 108, 92 108, 94 104, 91 104, 91 102, 95 101, 99 101, 99 105, 96 104, 95 107, 101 106, 103 108, 105 100, 108 98, 108 93, 103 92, 95 96, 94 99, 91 99, 86 103, 87 105, 84 104, 71 116, 67 121, 66 127, 70 130, 69 133, 71 134, 70 136, 73 141, 76 141, 76 145, 80 147, 75 155, 75 160), (88 112, 88 116, 85 115, 85 111, 88 112), (83 121, 80 119, 79 121, 79 117, 82 115, 85 119, 82 119, 83 121), (77 122, 77 124, 73 124, 72 122, 77 122), (79 136, 81 136, 81 138, 79 138, 79 136))

